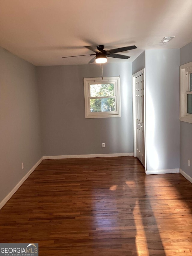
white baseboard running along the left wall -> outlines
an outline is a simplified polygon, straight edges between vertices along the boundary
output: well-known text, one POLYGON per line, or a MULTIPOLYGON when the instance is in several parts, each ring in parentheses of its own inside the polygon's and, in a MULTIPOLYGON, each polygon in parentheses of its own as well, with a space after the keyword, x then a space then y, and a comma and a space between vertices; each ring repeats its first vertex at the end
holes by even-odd
POLYGON ((9 194, 0 202, 0 209, 7 203, 7 201, 15 194, 17 189, 23 184, 23 182, 29 177, 29 175, 38 167, 43 160, 43 157, 29 170, 29 172, 17 183, 17 185, 9 192, 9 194))

